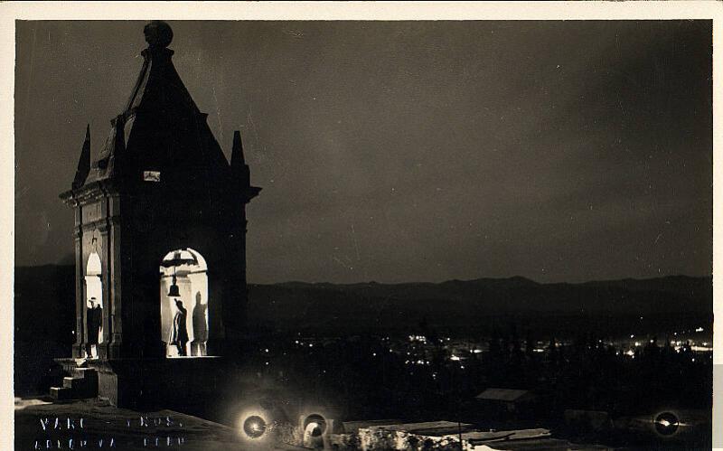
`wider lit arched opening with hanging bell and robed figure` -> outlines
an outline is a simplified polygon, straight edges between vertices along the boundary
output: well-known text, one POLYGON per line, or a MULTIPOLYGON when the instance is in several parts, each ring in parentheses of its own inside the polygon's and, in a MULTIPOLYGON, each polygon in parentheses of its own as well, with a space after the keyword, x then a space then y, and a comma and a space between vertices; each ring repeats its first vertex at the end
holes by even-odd
POLYGON ((166 357, 206 355, 208 267, 194 249, 172 250, 161 262, 161 340, 166 357))

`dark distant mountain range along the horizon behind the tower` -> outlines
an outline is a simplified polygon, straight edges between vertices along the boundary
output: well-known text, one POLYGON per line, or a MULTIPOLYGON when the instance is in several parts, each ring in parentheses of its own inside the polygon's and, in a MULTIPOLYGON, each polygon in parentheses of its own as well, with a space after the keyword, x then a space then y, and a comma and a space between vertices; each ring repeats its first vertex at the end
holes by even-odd
MULTIPOLYGON (((72 342, 74 268, 15 268, 15 339, 72 342), (57 321, 53 321, 57 319, 57 321)), ((213 300, 211 299, 211 302, 213 300)), ((712 324, 711 277, 540 284, 524 277, 441 283, 249 285, 249 324, 280 332, 451 334, 492 328, 569 334, 664 332, 712 324)))

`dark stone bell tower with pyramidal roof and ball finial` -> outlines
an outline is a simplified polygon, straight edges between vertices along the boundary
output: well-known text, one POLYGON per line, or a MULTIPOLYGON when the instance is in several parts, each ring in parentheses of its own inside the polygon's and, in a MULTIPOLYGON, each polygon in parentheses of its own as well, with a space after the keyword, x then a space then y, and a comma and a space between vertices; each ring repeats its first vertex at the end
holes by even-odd
MULTIPOLYGON (((186 251, 202 256, 207 277, 196 293, 206 305, 204 352, 229 355, 245 324, 245 209, 261 189, 250 184, 239 132, 229 163, 183 86, 168 48, 170 26, 148 23, 144 33, 143 67, 125 108, 92 164, 87 130, 71 189, 60 196, 75 213, 73 357, 85 357, 99 334, 99 362, 165 359, 162 330, 174 321, 166 292, 176 284, 174 265, 183 264, 166 257, 186 251), (173 267, 173 282, 164 267, 173 267), (91 297, 102 307, 99 332, 88 320, 91 297)), ((196 318, 183 304, 191 334, 196 318)))

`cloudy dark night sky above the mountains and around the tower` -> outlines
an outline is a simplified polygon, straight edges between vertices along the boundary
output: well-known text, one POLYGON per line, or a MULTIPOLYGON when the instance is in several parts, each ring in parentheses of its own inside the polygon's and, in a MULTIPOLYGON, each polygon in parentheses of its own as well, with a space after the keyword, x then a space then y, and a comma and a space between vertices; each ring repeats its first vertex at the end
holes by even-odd
MULTIPOLYGON (((15 258, 70 262, 70 188, 143 22, 17 23, 15 258)), ((711 272, 710 22, 171 22, 230 155, 249 281, 711 272)))

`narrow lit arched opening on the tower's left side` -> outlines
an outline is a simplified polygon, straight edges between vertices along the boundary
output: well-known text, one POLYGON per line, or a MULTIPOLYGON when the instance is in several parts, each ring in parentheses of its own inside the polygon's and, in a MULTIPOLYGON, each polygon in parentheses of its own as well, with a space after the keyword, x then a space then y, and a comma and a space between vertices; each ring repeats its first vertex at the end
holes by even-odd
POLYGON ((103 343, 103 267, 96 251, 90 253, 85 267, 85 352, 89 359, 98 358, 103 343))

